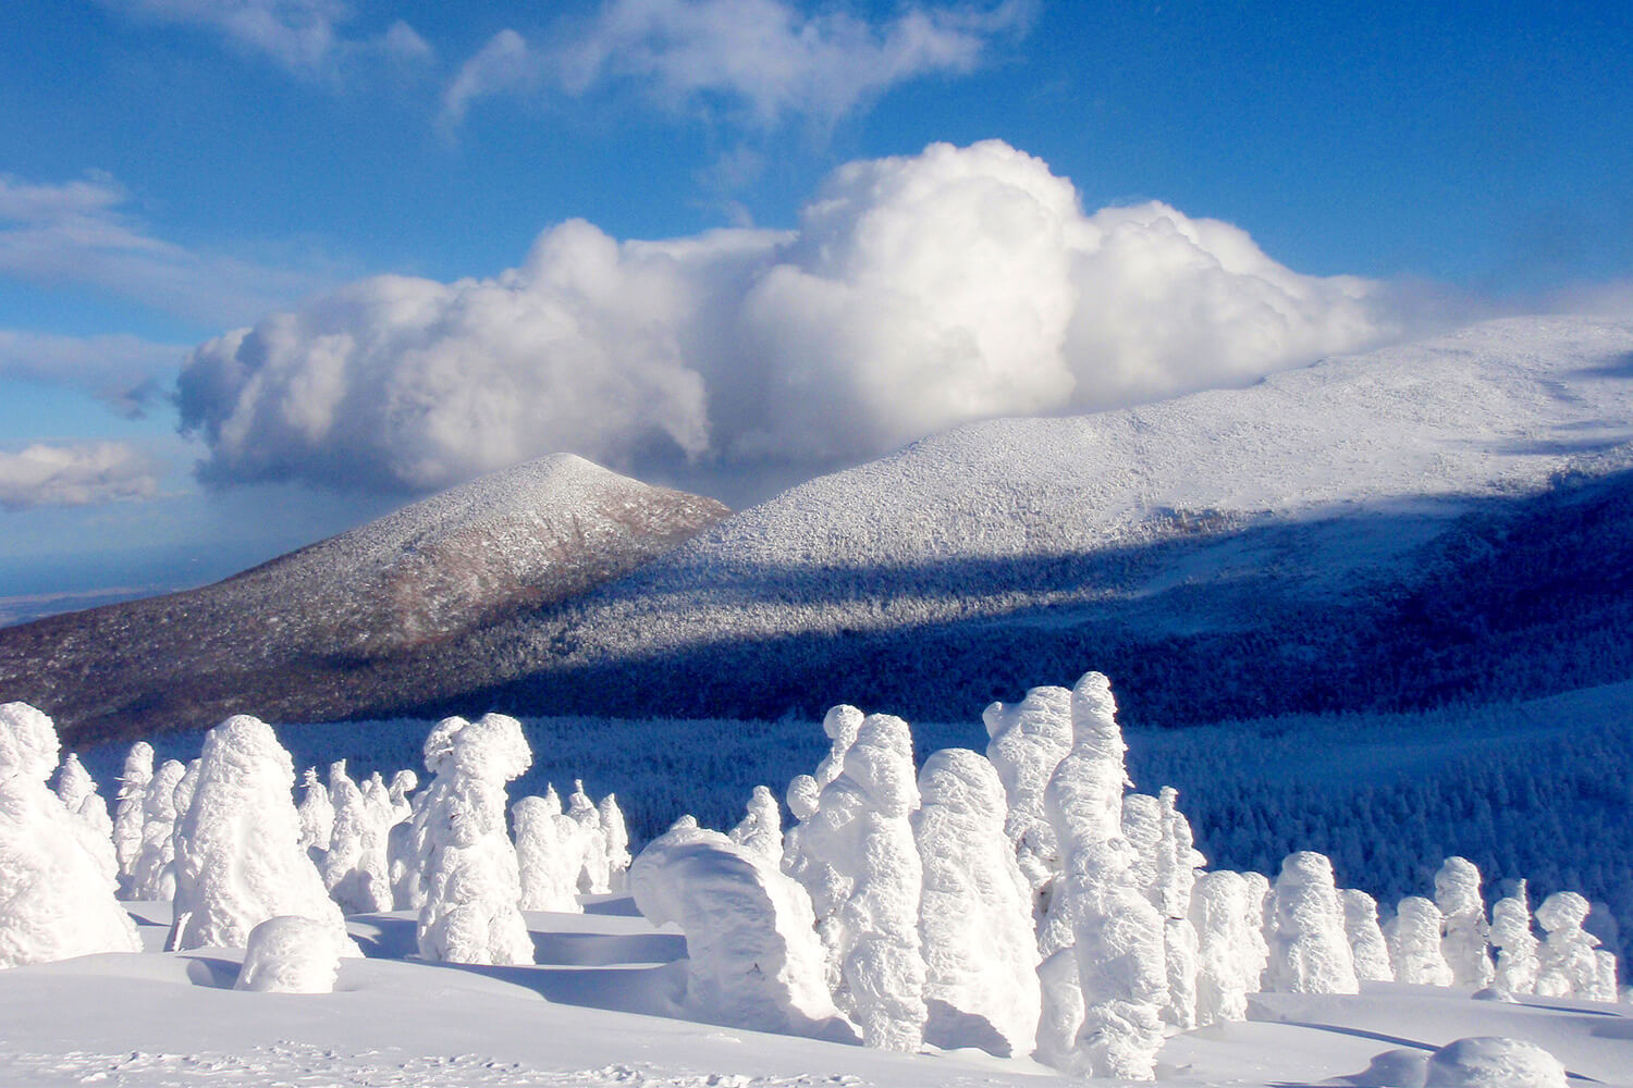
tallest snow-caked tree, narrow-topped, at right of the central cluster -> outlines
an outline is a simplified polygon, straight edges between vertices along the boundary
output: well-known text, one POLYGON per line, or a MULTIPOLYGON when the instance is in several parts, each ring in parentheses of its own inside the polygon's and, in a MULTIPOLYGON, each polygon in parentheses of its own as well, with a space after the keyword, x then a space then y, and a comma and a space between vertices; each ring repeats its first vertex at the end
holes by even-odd
POLYGON ((1124 789, 1132 783, 1117 703, 1102 674, 1089 672, 1073 688, 1071 729, 1071 752, 1043 793, 1061 865, 1045 931, 1070 928, 1071 946, 1040 967, 1039 1050, 1089 1077, 1151 1080, 1168 1003, 1163 918, 1135 886, 1133 850, 1122 837, 1124 789), (1066 1039, 1076 1002, 1081 1023, 1066 1039))

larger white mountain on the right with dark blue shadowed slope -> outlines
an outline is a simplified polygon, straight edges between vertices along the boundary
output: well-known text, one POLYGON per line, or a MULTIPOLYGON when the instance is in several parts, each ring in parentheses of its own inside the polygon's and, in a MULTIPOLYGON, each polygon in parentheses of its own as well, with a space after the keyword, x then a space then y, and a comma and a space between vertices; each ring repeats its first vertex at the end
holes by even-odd
POLYGON ((1633 675, 1630 529, 1633 323, 1502 320, 960 427, 457 649, 537 713, 962 718, 1084 667, 1145 723, 1422 706, 1633 675))

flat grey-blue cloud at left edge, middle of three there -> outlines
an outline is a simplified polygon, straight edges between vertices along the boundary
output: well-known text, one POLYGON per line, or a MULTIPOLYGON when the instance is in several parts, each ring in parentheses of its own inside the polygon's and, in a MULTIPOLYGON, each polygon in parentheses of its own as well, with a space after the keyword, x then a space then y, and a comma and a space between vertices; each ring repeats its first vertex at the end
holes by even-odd
POLYGON ((165 398, 185 346, 140 336, 54 336, 0 329, 0 378, 60 385, 108 405, 127 419, 165 398))

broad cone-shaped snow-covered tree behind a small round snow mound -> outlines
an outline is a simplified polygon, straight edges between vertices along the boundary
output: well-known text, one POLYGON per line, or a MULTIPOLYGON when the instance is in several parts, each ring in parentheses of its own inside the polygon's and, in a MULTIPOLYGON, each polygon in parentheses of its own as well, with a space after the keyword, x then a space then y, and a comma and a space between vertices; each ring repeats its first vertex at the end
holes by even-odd
POLYGON ((243 948, 278 915, 312 918, 354 949, 340 907, 300 848, 294 763, 271 726, 234 714, 204 736, 196 788, 176 822, 168 948, 243 948))

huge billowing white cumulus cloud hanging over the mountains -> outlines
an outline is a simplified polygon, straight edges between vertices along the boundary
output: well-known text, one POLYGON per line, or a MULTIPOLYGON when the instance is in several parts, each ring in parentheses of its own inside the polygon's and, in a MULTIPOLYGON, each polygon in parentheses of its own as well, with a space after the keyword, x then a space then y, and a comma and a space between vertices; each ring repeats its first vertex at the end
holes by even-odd
POLYGON ((970 419, 1246 383, 1395 334, 1164 204, 1084 214, 1001 142, 851 163, 794 232, 547 230, 492 279, 376 277, 199 346, 207 480, 429 489, 573 450, 612 467, 821 470, 970 419))

